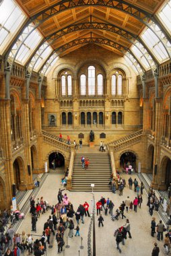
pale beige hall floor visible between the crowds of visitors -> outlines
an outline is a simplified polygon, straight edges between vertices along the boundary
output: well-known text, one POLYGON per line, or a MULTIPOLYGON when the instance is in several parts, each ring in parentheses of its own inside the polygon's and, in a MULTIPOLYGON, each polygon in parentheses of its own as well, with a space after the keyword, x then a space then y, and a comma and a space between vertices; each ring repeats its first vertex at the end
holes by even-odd
MULTIPOLYGON (((133 174, 134 179, 135 174, 133 174)), ((55 205, 57 203, 57 192, 59 188, 61 188, 61 177, 60 174, 49 174, 48 178, 46 179, 44 185, 40 189, 38 193, 38 197, 43 196, 46 201, 50 203, 50 205, 55 205)), ((125 175, 126 181, 129 179, 128 175, 125 175)), ((69 200, 73 203, 74 210, 77 210, 77 206, 79 203, 84 203, 84 201, 88 201, 88 203, 91 205, 92 200, 92 194, 86 193, 86 192, 69 192, 69 191, 63 191, 63 193, 67 193, 69 196, 69 200)), ((130 190, 128 186, 125 187, 123 191, 123 196, 119 196, 118 193, 94 193, 96 201, 100 199, 100 197, 103 195, 105 198, 109 197, 114 202, 114 211, 116 208, 121 204, 123 200, 127 198, 129 195, 130 199, 133 200, 136 196, 135 192, 133 190, 130 190)), ((151 237, 151 216, 149 216, 148 213, 148 207, 147 207, 147 194, 143 193, 143 204, 141 209, 137 210, 137 214, 135 212, 125 212, 125 216, 129 218, 129 222, 131 224, 131 235, 132 239, 127 238, 125 241, 125 246, 121 245, 122 249, 122 255, 127 256, 148 256, 151 255, 151 251, 153 249, 153 243, 157 241, 156 237, 151 237)), ((91 206, 90 206, 90 212, 91 212, 91 206)), ((27 234, 31 232, 33 234, 34 240, 36 238, 39 238, 39 236, 42 234, 43 225, 44 222, 48 219, 48 216, 50 214, 50 210, 46 212, 46 214, 43 214, 38 218, 37 222, 37 232, 31 232, 31 217, 28 213, 26 215, 26 218, 22 222, 18 232, 20 234, 24 230, 27 234)), ((118 253, 118 250, 116 249, 116 241, 114 237, 114 230, 116 228, 123 226, 125 224, 125 219, 122 220, 120 217, 114 222, 110 219, 110 215, 104 216, 104 211, 102 212, 102 216, 104 217, 104 227, 98 228, 98 216, 96 216, 96 255, 98 256, 113 256, 113 255, 120 255, 118 253)), ((160 216, 158 216, 157 212, 154 212, 153 217, 156 217, 156 223, 159 222, 160 216)), ((75 218, 74 222, 76 224, 75 218)), ((70 248, 65 248, 65 253, 61 255, 65 256, 86 256, 88 255, 88 246, 87 246, 87 240, 88 240, 88 228, 90 224, 90 218, 85 218, 85 224, 79 224, 80 228, 80 235, 83 238, 83 249, 79 249, 81 245, 81 238, 73 236, 72 239, 68 239, 70 248)), ((65 230, 65 245, 66 243, 66 237, 69 230, 65 230)), ((155 234, 156 236, 156 234, 155 234)), ((158 242, 158 241, 157 241, 158 242)), ((51 249, 48 249, 47 255, 57 255, 57 242, 55 240, 55 236, 51 237, 50 244, 53 245, 51 249)), ((164 243, 162 241, 158 242, 158 245, 160 246, 160 256, 165 255, 164 252, 164 243)), ((26 254, 26 253, 25 253, 26 254)))

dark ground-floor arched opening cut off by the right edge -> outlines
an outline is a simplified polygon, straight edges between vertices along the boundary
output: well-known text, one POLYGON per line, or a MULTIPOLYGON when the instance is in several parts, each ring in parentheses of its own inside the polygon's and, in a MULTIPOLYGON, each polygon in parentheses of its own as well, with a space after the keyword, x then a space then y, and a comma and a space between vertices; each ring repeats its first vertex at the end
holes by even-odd
POLYGON ((162 158, 160 170, 162 172, 161 181, 168 187, 171 183, 171 159, 168 156, 162 158))

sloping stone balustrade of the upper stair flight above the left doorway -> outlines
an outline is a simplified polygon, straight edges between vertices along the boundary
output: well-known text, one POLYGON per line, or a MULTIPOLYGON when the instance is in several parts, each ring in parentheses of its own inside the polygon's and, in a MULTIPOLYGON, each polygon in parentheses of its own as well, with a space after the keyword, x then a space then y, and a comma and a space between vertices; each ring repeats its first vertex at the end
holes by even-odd
POLYGON ((59 146, 59 148, 63 148, 67 151, 71 151, 71 146, 67 144, 66 139, 62 139, 62 141, 60 141, 58 136, 52 133, 48 133, 47 131, 44 130, 42 130, 42 135, 46 143, 50 143, 53 146, 59 146))

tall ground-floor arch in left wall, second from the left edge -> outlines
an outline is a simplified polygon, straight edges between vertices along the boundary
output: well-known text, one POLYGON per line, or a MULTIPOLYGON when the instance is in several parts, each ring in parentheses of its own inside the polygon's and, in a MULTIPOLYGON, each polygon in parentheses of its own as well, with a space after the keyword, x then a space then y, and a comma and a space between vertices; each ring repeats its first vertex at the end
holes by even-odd
POLYGON ((21 156, 18 156, 13 160, 13 178, 17 189, 20 189, 21 185, 24 185, 25 179, 24 160, 21 156))

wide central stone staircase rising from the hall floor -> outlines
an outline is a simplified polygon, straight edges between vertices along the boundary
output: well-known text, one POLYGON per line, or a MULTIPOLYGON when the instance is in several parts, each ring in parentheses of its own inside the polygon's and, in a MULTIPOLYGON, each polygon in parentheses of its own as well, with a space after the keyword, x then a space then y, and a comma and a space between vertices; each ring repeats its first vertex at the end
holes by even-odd
POLYGON ((76 154, 73 164, 72 189, 71 191, 92 191, 90 186, 95 185, 94 191, 110 191, 111 167, 108 152, 95 154, 76 154), (81 166, 81 156, 90 160, 88 169, 81 166))

